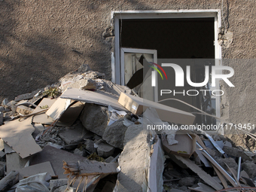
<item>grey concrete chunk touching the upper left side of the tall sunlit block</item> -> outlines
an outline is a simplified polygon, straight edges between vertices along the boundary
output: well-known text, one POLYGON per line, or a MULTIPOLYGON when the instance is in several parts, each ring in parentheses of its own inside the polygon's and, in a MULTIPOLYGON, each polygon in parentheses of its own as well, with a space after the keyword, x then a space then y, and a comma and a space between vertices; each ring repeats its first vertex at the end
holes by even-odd
POLYGON ((126 130, 127 126, 125 125, 124 119, 117 120, 106 127, 102 139, 108 144, 113 145, 115 148, 123 149, 123 139, 126 130))

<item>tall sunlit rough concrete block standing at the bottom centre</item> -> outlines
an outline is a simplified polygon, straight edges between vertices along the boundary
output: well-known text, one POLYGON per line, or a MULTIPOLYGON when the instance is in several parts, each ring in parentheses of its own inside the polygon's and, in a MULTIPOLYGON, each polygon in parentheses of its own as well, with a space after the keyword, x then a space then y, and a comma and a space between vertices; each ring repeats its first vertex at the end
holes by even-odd
POLYGON ((123 141, 123 152, 119 157, 121 170, 115 188, 117 191, 146 190, 150 152, 148 131, 142 124, 128 126, 123 141))

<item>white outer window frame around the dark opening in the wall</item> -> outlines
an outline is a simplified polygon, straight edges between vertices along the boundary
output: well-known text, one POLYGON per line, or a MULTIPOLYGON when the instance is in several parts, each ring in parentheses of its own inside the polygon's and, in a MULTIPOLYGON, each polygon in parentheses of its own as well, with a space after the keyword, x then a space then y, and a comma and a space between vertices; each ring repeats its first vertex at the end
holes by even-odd
MULTIPOLYGON (((191 10, 158 10, 158 11, 111 11, 111 20, 114 21, 114 69, 112 69, 112 80, 120 84, 120 20, 138 19, 174 19, 174 18, 215 18, 215 59, 221 59, 221 45, 218 44, 218 29, 221 27, 220 9, 191 9, 191 10)), ((215 66, 221 63, 216 62, 215 66)), ((219 82, 216 82, 219 89, 219 82)), ((216 116, 221 116, 221 98, 216 98, 216 116)))

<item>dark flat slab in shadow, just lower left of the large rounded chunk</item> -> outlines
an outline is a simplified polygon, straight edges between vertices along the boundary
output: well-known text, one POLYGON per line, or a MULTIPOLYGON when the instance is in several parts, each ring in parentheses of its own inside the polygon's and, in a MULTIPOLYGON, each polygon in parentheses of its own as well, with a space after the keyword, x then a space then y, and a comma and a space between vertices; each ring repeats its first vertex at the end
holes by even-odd
POLYGON ((90 138, 92 134, 78 121, 78 123, 75 123, 72 127, 66 127, 59 132, 58 136, 66 142, 67 145, 73 145, 82 142, 85 138, 90 138))

